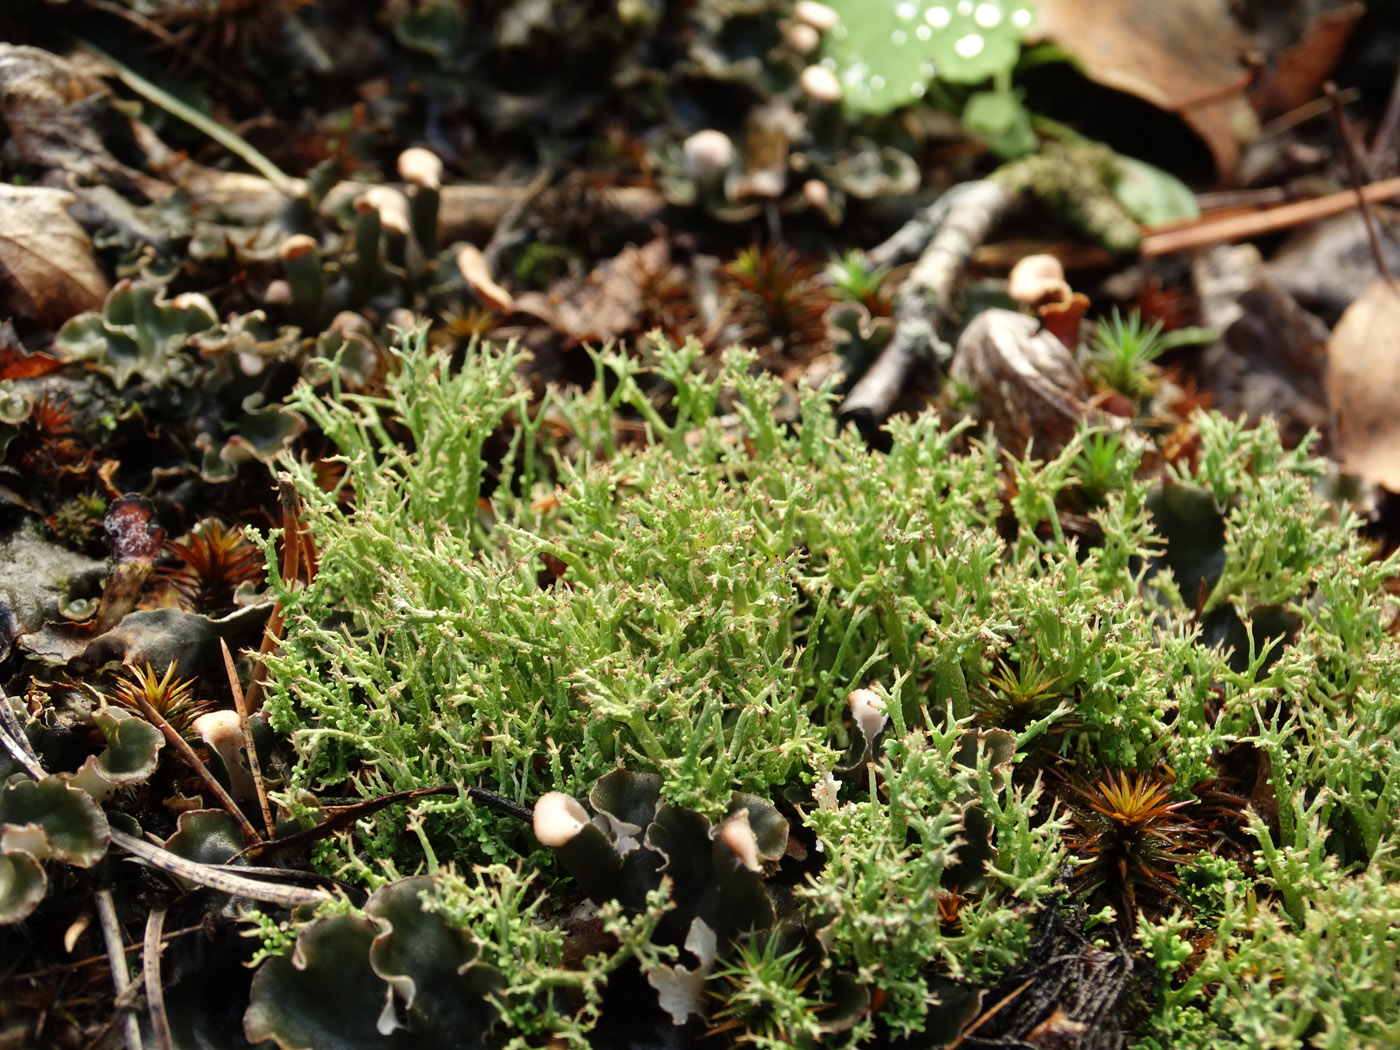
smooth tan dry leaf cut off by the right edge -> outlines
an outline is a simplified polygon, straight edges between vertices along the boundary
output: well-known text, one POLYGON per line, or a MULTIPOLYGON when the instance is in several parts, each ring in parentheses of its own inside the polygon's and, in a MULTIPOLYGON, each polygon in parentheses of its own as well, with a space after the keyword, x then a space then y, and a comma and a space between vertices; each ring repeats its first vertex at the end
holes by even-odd
POLYGON ((1343 469, 1400 491, 1400 290, 1376 277, 1327 340, 1343 469))

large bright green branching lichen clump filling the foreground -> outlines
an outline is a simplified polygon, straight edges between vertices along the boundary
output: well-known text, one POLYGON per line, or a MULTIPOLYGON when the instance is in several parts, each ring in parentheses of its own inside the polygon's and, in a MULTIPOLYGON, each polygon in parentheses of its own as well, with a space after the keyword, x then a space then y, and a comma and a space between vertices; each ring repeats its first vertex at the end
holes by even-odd
MULTIPOLYGON (((801 1029, 839 984, 874 1005, 829 1044, 937 1029, 955 988, 1026 956, 1046 900, 1092 893, 1161 974, 1134 993, 1144 1046, 1393 1040, 1394 951, 1352 932, 1396 921, 1397 564, 1315 496, 1303 449, 1198 416, 1175 466, 1088 431, 1021 462, 924 416, 876 454, 836 428, 829 391, 794 402, 741 353, 603 353, 599 382, 543 405, 519 363, 456 365, 416 336, 382 396, 293 396, 344 475, 323 491, 288 463, 319 550, 309 585, 274 582, 288 799, 472 784, 531 805, 623 767, 717 827, 736 791, 771 801, 811 850, 764 878, 809 941, 721 944, 704 980, 735 1037, 801 1029), (879 727, 853 724, 867 689, 879 727), (1211 834, 1229 806, 1203 785, 1242 771, 1221 783, 1247 818, 1211 834), (1128 773, 1194 860, 1105 844, 1117 818, 1075 815, 1071 781, 1128 773), (1161 869, 1072 878, 1110 847, 1161 869)), ((500 886, 549 854, 465 791, 361 832, 322 861, 372 883, 482 865, 445 875, 455 911, 542 921, 538 895, 500 886)), ((557 977, 563 938, 532 944, 557 977)), ((493 965, 526 990, 504 1016, 587 1044, 606 1014, 608 966, 577 970, 584 1023, 547 988, 529 1000, 508 952, 493 965)))

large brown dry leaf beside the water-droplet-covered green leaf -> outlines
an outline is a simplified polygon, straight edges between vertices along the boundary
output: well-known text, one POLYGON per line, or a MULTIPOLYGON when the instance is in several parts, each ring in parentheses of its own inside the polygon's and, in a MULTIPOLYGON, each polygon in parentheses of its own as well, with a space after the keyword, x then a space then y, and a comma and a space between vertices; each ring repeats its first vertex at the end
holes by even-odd
POLYGON ((1240 94, 1249 39, 1228 0, 1040 0, 1036 21, 1096 84, 1179 115, 1210 148, 1221 181, 1231 181, 1236 120, 1252 112, 1240 94))

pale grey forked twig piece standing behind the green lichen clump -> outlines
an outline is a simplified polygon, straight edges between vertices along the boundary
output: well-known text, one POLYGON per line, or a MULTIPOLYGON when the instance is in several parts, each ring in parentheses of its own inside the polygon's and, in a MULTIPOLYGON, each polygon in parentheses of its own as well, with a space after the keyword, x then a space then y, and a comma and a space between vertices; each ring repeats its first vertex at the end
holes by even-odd
POLYGON ((918 262, 895 297, 895 337, 847 395, 839 419, 869 438, 910 378, 934 363, 941 342, 938 321, 948 314, 959 277, 1014 203, 1015 195, 1004 186, 965 182, 869 253, 875 265, 914 253, 918 262))

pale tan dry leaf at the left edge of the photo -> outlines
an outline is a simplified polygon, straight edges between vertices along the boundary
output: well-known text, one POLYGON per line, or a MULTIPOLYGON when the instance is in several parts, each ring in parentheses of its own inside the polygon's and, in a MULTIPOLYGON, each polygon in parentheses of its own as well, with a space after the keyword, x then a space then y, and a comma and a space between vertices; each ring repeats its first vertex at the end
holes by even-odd
POLYGON ((0 185, 0 315, 57 328, 102 305, 106 277, 67 213, 74 200, 63 189, 0 185))

